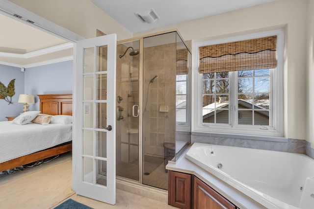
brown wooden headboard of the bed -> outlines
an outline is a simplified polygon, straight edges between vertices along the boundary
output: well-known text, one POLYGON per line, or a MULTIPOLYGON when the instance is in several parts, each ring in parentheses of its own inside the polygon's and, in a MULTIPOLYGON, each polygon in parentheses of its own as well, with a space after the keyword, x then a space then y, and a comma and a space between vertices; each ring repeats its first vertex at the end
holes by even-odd
POLYGON ((72 116, 72 93, 38 94, 42 114, 72 116))

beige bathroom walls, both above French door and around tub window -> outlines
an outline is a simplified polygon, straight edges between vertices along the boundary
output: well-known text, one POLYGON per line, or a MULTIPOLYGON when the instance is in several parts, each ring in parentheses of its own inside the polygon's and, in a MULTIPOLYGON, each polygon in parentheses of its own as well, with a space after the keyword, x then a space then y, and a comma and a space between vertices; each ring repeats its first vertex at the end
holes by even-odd
POLYGON ((310 51, 313 53, 313 0, 276 0, 271 3, 136 34, 131 34, 130 31, 112 20, 89 0, 11 1, 85 38, 96 36, 96 28, 106 34, 117 33, 119 40, 130 38, 132 35, 139 36, 178 28, 184 40, 192 40, 195 43, 284 28, 285 137, 314 142, 314 111, 310 110, 312 108, 310 104, 313 104, 314 84, 312 84, 313 82, 305 82, 306 76, 310 79, 314 76, 313 55, 312 57, 307 56, 310 51), (312 20, 307 21, 309 17, 312 20), (307 33, 308 28, 312 28, 312 30, 307 33), (307 87, 311 87, 311 90, 307 91, 307 87))

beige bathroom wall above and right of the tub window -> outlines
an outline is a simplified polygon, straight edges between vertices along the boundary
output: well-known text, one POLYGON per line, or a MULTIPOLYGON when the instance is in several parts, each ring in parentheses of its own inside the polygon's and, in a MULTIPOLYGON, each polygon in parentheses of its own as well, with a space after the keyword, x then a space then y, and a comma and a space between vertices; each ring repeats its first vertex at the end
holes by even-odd
MULTIPOLYGON (((310 1, 313 2, 313 0, 310 1)), ((308 0, 277 0, 233 12, 143 31, 134 34, 134 36, 177 28, 184 40, 192 40, 195 43, 284 28, 286 42, 284 71, 285 137, 306 139, 307 112, 305 107, 308 95, 305 84, 307 65, 305 58, 306 42, 304 40, 307 29, 306 11, 308 3, 308 0)), ((309 11, 313 13, 313 8, 309 11)), ((311 127, 313 129, 313 125, 311 127)))

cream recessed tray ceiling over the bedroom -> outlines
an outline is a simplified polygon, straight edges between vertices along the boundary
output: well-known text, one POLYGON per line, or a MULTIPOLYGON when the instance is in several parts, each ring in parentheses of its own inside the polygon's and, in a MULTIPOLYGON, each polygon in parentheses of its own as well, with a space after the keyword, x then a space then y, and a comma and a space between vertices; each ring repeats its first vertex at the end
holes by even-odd
POLYGON ((0 28, 1 64, 26 67, 34 63, 42 65, 48 60, 64 60, 64 57, 73 55, 72 43, 20 22, 15 17, 0 14, 0 28))

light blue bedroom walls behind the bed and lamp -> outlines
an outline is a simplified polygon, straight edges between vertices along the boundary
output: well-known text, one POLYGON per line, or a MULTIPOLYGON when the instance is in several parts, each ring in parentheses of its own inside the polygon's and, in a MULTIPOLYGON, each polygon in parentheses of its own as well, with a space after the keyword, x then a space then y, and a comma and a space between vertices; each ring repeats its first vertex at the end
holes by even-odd
POLYGON ((72 73, 72 60, 27 68, 25 72, 22 72, 21 68, 0 65, 0 81, 5 86, 15 78, 13 105, 8 105, 7 102, 0 99, 0 121, 7 120, 5 116, 18 116, 23 113, 23 104, 18 103, 21 93, 35 96, 35 104, 30 104, 29 110, 39 110, 37 94, 72 93, 72 73))

